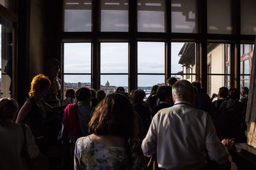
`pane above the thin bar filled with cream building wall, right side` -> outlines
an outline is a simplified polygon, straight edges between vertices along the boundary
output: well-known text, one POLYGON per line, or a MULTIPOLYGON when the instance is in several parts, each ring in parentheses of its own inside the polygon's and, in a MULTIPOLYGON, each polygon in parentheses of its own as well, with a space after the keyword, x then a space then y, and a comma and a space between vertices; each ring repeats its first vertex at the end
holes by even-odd
POLYGON ((225 44, 209 43, 207 45, 207 73, 225 74, 225 44))

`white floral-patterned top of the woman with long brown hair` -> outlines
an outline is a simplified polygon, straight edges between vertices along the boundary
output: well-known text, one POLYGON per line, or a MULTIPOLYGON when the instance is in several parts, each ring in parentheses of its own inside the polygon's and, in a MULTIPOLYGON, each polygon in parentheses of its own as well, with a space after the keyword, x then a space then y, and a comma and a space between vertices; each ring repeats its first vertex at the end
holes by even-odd
POLYGON ((130 161, 125 148, 93 142, 89 136, 76 142, 75 169, 144 169, 140 162, 130 161), (132 162, 132 163, 131 163, 132 162))

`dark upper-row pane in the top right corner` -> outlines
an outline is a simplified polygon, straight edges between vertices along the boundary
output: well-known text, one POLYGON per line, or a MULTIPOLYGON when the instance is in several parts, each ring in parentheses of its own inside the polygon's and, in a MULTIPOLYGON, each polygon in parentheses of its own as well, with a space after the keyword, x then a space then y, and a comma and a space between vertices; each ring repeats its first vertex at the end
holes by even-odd
POLYGON ((256 1, 241 1, 241 34, 256 34, 256 1))

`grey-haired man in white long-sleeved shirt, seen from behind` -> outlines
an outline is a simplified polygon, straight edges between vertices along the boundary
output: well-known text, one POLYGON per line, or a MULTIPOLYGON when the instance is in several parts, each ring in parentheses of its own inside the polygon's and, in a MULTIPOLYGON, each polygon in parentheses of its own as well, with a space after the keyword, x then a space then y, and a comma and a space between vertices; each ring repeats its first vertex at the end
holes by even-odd
POLYGON ((157 155, 163 169, 204 169, 206 157, 224 164, 228 152, 216 136, 211 116, 193 108, 193 86, 187 80, 172 86, 170 108, 157 112, 143 139, 144 155, 157 155))

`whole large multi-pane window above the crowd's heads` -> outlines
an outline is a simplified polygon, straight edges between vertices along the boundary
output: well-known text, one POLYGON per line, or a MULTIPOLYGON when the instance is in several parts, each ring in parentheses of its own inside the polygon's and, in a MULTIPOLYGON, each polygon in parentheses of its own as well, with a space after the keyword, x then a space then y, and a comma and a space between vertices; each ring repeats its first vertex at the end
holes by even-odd
MULTIPOLYGON (((66 45, 90 45, 81 52, 88 57, 77 60, 86 62, 81 69, 63 64, 64 81, 107 93, 119 86, 148 92, 170 76, 201 81, 210 96, 223 86, 239 88, 250 77, 245 57, 256 27, 252 6, 249 0, 63 0, 63 62, 74 62, 66 61, 66 45), (239 57, 241 73, 234 73, 239 57)), ((79 51, 70 49, 72 59, 79 51)))

